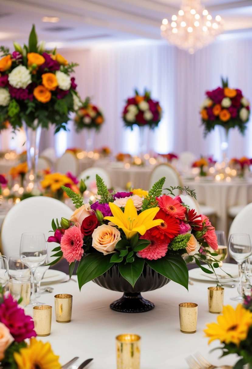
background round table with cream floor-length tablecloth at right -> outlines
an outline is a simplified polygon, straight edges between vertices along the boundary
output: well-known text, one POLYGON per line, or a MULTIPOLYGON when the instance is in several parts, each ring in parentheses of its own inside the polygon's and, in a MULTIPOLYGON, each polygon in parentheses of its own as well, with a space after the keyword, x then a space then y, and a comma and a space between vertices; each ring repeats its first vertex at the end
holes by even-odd
POLYGON ((183 180, 185 186, 195 190, 200 204, 211 206, 217 215, 216 229, 227 232, 228 208, 252 202, 252 179, 232 179, 231 182, 208 180, 183 180))

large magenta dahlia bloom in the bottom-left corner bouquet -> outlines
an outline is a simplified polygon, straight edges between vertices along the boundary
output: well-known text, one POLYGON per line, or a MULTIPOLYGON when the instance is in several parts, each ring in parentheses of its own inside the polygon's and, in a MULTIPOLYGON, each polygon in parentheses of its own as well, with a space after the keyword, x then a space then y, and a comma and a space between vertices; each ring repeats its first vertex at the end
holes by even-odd
POLYGON ((16 342, 25 338, 36 337, 32 317, 24 314, 24 310, 17 305, 17 301, 9 295, 0 304, 0 322, 6 325, 16 342))

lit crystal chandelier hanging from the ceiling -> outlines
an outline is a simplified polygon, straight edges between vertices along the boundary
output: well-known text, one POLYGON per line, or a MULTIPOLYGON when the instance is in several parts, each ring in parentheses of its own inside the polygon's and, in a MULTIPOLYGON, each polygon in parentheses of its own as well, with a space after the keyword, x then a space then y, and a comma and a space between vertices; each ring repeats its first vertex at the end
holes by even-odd
POLYGON ((213 19, 200 0, 183 0, 178 15, 171 17, 171 23, 163 19, 160 28, 168 42, 190 54, 213 42, 223 29, 221 17, 213 19))

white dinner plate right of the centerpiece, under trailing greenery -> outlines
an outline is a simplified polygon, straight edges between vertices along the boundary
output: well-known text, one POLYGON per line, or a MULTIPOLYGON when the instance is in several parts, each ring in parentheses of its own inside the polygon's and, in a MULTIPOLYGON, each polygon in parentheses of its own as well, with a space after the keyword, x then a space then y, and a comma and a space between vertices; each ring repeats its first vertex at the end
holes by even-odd
MULTIPOLYGON (((206 269, 208 269, 207 265, 203 265, 206 269)), ((212 270, 212 269, 211 269, 212 270)), ((215 273, 218 276, 218 280, 221 283, 225 282, 233 282, 234 280, 238 280, 238 265, 223 263, 221 268, 215 268, 215 273), (225 272, 231 274, 229 277, 225 272)), ((215 274, 208 274, 203 272, 200 268, 195 268, 189 270, 189 277, 191 279, 199 280, 199 281, 212 281, 215 280, 215 274)))

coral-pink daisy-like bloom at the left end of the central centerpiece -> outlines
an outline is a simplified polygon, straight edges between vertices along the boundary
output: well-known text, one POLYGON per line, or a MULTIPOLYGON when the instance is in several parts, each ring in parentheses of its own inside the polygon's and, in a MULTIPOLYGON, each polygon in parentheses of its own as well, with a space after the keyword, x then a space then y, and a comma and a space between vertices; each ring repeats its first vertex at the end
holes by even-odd
POLYGON ((61 237, 60 247, 63 252, 63 256, 69 263, 75 260, 80 261, 84 254, 83 246, 83 234, 81 233, 81 226, 76 223, 74 227, 65 230, 64 235, 61 237))

